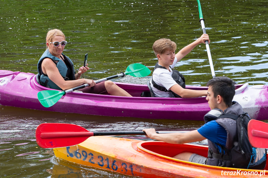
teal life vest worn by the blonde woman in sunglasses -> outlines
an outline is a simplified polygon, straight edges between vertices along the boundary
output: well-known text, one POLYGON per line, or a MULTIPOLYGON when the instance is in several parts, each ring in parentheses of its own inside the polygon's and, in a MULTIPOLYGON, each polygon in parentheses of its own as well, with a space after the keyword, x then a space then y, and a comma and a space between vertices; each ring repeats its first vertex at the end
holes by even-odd
POLYGON ((61 90, 61 88, 58 87, 58 85, 56 85, 54 82, 52 82, 52 80, 50 80, 48 78, 48 76, 45 75, 42 71, 41 64, 42 64, 43 60, 46 58, 51 59, 56 64, 56 67, 58 68, 58 70, 59 70, 62 78, 64 78, 64 80, 75 80, 75 71, 74 71, 73 62, 70 60, 70 58, 68 58, 63 53, 62 53, 62 55, 64 57, 65 63, 61 59, 50 54, 49 50, 46 50, 43 53, 43 55, 41 56, 41 58, 39 59, 38 64, 37 64, 37 70, 38 70, 38 73, 40 76, 40 85, 48 87, 48 88, 52 88, 52 89, 61 90), (69 76, 66 76, 67 70, 68 70, 67 66, 70 68, 70 75, 69 76))

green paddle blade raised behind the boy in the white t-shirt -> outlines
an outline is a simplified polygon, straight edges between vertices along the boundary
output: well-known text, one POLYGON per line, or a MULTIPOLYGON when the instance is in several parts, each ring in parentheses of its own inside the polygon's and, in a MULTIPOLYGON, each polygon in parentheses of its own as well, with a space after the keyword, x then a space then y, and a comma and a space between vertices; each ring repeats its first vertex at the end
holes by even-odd
POLYGON ((126 75, 134 77, 145 77, 148 76, 150 73, 150 69, 139 63, 130 64, 125 72, 126 75))

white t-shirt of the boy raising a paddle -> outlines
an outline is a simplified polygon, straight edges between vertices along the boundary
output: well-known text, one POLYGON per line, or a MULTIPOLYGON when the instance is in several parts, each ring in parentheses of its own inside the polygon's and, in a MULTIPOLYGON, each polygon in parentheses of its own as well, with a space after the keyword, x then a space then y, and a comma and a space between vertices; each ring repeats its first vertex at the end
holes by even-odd
MULTIPOLYGON (((177 58, 175 57, 173 64, 170 66, 169 72, 167 69, 161 69, 156 68, 152 73, 153 81, 160 86, 165 87, 167 90, 169 90, 173 85, 176 85, 177 82, 172 78, 172 68, 175 67, 175 64, 177 63, 177 58)), ((170 98, 173 96, 173 93, 171 92, 164 92, 156 89, 152 85, 152 79, 150 81, 150 85, 152 87, 152 91, 156 97, 163 97, 163 98, 170 98)))

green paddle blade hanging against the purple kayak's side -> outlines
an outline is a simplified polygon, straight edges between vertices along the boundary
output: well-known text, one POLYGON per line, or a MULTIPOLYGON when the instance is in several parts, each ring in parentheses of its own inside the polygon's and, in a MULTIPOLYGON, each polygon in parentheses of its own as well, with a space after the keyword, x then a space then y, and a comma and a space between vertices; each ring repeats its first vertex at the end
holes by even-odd
POLYGON ((44 107, 50 107, 59 101, 64 93, 64 91, 43 90, 37 93, 37 98, 44 107))

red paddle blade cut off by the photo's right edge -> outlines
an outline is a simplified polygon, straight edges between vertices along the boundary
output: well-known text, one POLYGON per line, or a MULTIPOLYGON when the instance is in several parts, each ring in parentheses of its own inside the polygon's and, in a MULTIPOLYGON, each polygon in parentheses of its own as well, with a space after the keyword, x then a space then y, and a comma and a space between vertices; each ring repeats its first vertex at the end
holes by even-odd
POLYGON ((259 120, 248 122, 248 139, 253 147, 268 148, 268 124, 259 120))

